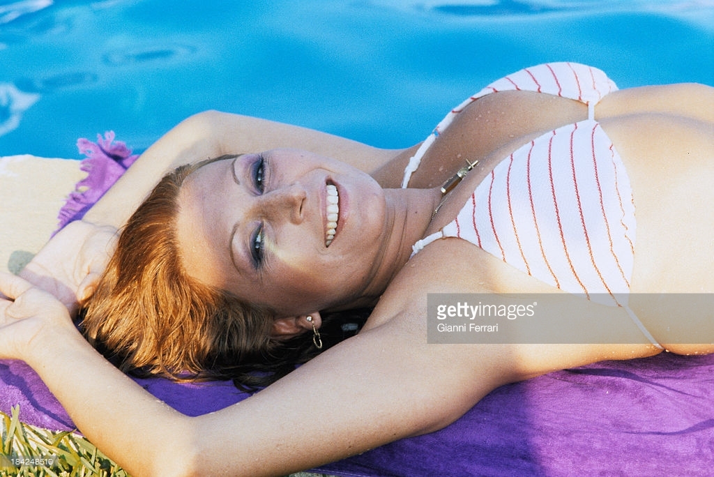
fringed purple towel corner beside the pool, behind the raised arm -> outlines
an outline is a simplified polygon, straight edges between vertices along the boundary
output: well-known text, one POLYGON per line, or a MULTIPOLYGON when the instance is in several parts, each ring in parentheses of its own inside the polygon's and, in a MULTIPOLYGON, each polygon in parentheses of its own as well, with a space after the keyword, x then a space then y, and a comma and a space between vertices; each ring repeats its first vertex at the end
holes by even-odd
POLYGON ((80 168, 88 174, 76 184, 59 211, 59 225, 54 234, 71 221, 84 217, 86 211, 89 211, 139 158, 138 154, 131 154, 131 149, 127 148, 124 142, 114 141, 114 131, 106 131, 104 138, 97 134, 96 143, 84 138, 78 139, 77 148, 86 156, 80 168))

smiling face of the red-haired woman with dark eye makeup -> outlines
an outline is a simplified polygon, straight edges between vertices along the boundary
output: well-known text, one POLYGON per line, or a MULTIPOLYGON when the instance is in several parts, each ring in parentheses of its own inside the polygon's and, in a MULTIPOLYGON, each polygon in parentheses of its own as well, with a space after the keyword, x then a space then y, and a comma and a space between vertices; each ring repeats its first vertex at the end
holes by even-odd
POLYGON ((179 206, 188 273, 278 317, 358 298, 383 254, 381 187, 358 169, 305 151, 207 164, 184 182, 179 206))

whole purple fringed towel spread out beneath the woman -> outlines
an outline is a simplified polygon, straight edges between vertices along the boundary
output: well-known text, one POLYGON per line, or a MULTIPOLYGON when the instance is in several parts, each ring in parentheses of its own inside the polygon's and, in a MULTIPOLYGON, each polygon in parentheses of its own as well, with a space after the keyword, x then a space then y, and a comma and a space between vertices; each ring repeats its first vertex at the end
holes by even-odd
MULTIPOLYGON (((84 182, 92 192, 71 199, 62 225, 81 218, 121 175, 115 173, 128 166, 124 161, 136 158, 113 141, 113 133, 96 145, 79 141, 93 164, 84 182), (92 171, 109 173, 95 176, 92 171)), ((248 397, 226 382, 135 381, 189 416, 248 397)), ((502 386, 441 431, 320 470, 343 476, 709 476, 714 463, 713 393, 714 355, 661 353, 605 361, 502 386)), ((9 413, 17 404, 26 423, 56 430, 74 427, 31 368, 0 361, 0 411, 9 413)), ((305 433, 309 443, 309 430, 305 433)))

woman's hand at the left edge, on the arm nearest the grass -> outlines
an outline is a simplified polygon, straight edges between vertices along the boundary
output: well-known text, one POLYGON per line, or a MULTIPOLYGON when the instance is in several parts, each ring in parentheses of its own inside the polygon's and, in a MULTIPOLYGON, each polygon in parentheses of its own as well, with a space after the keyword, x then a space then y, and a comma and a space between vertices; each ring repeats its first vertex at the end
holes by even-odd
MULTIPOLYGON (((0 272, 0 358, 28 361, 37 338, 77 333, 64 303, 19 276, 0 272)), ((40 340, 41 341, 41 340, 40 340)))

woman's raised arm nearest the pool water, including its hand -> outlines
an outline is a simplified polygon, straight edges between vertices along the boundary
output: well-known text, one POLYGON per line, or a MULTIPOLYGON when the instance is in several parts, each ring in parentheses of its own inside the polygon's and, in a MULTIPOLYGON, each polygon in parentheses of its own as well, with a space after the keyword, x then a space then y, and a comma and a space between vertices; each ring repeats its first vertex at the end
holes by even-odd
POLYGON ((222 154, 290 147, 315 151, 373 172, 400 151, 376 149, 331 134, 237 114, 205 111, 156 141, 92 207, 69 224, 21 272, 74 310, 92 286, 114 246, 114 234, 166 172, 222 154))

